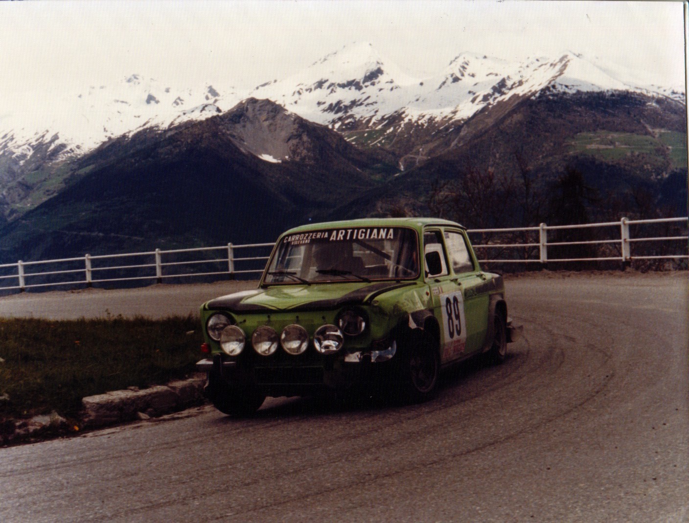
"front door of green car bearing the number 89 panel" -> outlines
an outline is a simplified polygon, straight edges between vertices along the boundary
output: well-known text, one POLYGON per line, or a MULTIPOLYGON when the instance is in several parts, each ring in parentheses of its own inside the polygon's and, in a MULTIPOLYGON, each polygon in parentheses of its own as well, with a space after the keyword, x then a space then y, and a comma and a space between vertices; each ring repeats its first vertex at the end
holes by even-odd
POLYGON ((464 294, 449 269, 449 258, 440 228, 424 231, 424 267, 433 315, 440 323, 440 361, 461 358, 466 349, 464 294))

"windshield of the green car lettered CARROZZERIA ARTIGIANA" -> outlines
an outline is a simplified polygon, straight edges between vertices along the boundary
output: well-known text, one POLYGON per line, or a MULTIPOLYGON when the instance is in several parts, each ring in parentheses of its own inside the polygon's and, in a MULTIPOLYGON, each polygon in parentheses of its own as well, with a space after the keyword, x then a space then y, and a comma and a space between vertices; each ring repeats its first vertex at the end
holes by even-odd
POLYGON ((413 229, 342 227, 282 238, 264 283, 410 280, 418 274, 418 240, 413 229))

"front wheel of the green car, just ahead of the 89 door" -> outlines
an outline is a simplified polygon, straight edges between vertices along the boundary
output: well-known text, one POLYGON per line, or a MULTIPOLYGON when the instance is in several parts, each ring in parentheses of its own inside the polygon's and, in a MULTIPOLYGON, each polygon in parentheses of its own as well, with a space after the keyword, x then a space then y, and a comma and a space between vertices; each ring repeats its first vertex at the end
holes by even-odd
POLYGON ((438 393, 440 382, 440 356, 438 340, 422 331, 409 347, 404 358, 403 382, 407 400, 424 402, 438 393))

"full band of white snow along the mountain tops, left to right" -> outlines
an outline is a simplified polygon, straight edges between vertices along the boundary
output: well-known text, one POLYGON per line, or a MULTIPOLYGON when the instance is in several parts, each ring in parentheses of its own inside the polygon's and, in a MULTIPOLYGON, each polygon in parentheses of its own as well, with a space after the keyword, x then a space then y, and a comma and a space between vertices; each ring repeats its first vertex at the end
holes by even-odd
POLYGON ((371 44, 355 43, 251 92, 203 82, 165 85, 132 74, 115 85, 84 87, 56 98, 35 96, 30 107, 0 107, 0 155, 18 165, 38 150, 59 159, 145 127, 205 119, 249 96, 271 99, 340 131, 375 128, 391 119, 398 125, 462 122, 486 106, 544 90, 631 90, 684 101, 678 90, 641 85, 638 74, 572 52, 524 62, 464 52, 439 74, 415 78, 380 57, 371 44))

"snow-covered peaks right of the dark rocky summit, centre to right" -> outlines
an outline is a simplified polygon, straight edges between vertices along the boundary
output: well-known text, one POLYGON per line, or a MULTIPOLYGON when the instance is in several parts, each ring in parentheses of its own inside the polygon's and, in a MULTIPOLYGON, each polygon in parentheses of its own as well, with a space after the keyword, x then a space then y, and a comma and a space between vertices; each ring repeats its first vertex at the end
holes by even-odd
POLYGON ((487 105, 546 89, 628 90, 683 101, 683 93, 613 74, 573 52, 524 62, 465 52, 440 74, 413 78, 384 61, 370 44, 362 44, 345 46, 287 79, 260 85, 251 96, 269 98, 339 130, 376 127, 393 114, 401 116, 398 123, 464 121, 487 105))

